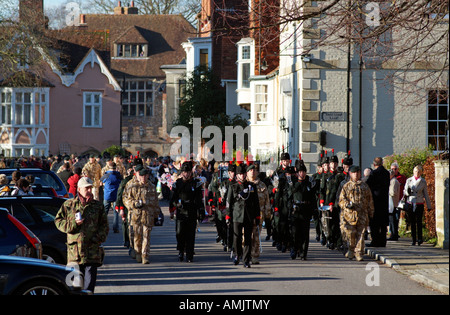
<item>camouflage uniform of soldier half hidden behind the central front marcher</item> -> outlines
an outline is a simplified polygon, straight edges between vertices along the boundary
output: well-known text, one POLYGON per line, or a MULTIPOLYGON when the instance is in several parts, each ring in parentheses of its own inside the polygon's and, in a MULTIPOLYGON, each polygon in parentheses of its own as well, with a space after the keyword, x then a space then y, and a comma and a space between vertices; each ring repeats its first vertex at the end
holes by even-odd
POLYGON ((267 219, 271 217, 271 206, 269 200, 269 191, 267 190, 266 184, 264 184, 259 178, 250 182, 255 184, 256 190, 258 192, 260 216, 261 216, 261 220, 259 220, 259 225, 254 224, 252 232, 252 261, 253 263, 257 263, 258 257, 260 255, 259 240, 262 230, 262 222, 263 222, 262 219, 267 219))

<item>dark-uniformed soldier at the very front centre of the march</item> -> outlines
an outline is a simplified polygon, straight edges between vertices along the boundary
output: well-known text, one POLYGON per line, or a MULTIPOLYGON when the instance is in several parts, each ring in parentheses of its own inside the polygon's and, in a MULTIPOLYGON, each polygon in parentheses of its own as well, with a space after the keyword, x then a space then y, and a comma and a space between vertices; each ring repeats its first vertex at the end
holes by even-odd
POLYGON ((244 267, 250 268, 252 258, 253 225, 259 225, 260 208, 257 189, 254 184, 246 180, 246 167, 241 164, 236 169, 236 183, 228 190, 226 215, 230 224, 230 214, 233 217, 233 248, 235 251, 234 264, 239 264, 243 255, 244 267), (244 230, 244 250, 242 250, 242 230, 244 230))

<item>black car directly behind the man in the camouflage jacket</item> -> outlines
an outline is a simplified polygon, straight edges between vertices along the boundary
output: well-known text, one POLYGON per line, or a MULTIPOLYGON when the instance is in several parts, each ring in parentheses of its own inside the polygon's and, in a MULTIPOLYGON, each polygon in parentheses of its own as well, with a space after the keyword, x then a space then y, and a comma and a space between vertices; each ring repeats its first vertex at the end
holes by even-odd
POLYGON ((66 199, 57 197, 14 196, 0 197, 0 207, 8 209, 28 227, 42 243, 42 258, 66 264, 67 236, 55 225, 55 217, 66 199))

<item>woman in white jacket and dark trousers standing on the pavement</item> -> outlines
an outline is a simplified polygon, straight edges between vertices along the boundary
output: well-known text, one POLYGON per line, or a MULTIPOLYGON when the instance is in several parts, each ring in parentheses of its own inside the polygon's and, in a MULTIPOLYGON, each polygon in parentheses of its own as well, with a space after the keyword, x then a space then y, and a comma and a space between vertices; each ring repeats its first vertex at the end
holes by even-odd
POLYGON ((422 175, 422 166, 417 165, 413 170, 414 175, 406 180, 403 193, 407 196, 407 202, 411 205, 409 218, 411 223, 412 246, 423 243, 422 217, 424 211, 424 200, 428 211, 431 209, 430 197, 428 196, 427 182, 422 175))

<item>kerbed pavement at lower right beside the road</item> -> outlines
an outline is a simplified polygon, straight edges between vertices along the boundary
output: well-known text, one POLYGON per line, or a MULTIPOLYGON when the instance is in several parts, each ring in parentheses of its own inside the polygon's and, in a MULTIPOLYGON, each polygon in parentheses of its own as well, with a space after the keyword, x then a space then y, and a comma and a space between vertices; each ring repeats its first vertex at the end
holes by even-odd
MULTIPOLYGON (((422 285, 449 294, 449 250, 431 244, 411 246, 412 239, 388 241, 386 247, 366 247, 366 254, 422 285)), ((399 292, 401 294, 401 292, 399 292)))

